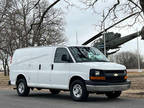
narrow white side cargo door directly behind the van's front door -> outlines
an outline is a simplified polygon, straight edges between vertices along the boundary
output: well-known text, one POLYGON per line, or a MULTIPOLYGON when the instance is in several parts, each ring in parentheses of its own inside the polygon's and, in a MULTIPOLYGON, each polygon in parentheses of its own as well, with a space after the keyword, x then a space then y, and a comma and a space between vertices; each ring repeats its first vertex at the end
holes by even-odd
POLYGON ((53 48, 47 48, 43 52, 43 56, 39 57, 38 60, 38 83, 40 87, 49 88, 51 87, 50 76, 51 76, 51 64, 53 58, 53 48))

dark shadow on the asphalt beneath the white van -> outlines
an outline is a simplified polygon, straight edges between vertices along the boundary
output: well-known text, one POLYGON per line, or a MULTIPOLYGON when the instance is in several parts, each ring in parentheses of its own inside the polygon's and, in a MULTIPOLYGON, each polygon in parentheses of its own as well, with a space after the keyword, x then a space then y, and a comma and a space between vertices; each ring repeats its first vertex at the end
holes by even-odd
MULTIPOLYGON (((60 93, 57 95, 53 95, 50 93, 31 93, 29 95, 29 97, 37 98, 37 99, 51 99, 51 100, 72 101, 73 102, 69 93, 60 93)), ((92 94, 88 97, 87 101, 85 101, 85 102, 98 102, 98 103, 102 102, 102 103, 104 103, 104 102, 121 102, 124 100, 125 99, 123 99, 123 98, 108 99, 105 96, 99 96, 96 94, 92 94)))

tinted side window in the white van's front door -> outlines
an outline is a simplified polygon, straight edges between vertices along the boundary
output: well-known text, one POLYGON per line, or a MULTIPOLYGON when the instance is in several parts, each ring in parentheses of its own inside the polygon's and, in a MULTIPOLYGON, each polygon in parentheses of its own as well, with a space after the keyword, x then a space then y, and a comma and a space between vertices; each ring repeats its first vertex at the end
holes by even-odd
POLYGON ((63 55, 67 55, 70 62, 72 62, 72 59, 71 59, 71 57, 69 55, 69 52, 67 51, 66 48, 57 48, 56 53, 55 53, 54 62, 55 63, 64 63, 65 61, 62 61, 62 56, 63 55))

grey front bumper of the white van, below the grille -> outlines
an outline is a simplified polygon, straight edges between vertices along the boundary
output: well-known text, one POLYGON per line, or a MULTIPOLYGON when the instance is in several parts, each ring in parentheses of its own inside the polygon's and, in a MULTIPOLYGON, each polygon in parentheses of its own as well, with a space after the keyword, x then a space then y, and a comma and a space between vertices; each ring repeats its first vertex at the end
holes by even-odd
POLYGON ((109 92, 124 91, 130 88, 131 82, 127 80, 124 83, 98 83, 86 81, 86 88, 89 92, 109 92))

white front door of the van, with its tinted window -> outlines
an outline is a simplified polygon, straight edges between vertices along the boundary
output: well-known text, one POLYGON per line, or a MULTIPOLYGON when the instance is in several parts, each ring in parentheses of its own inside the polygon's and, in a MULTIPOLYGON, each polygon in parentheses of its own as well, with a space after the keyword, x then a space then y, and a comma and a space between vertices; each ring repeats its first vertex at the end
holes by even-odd
POLYGON ((67 89, 69 83, 71 56, 66 48, 57 48, 54 57, 53 69, 51 72, 51 84, 53 88, 67 89), (69 61, 63 61, 65 55, 69 61))

